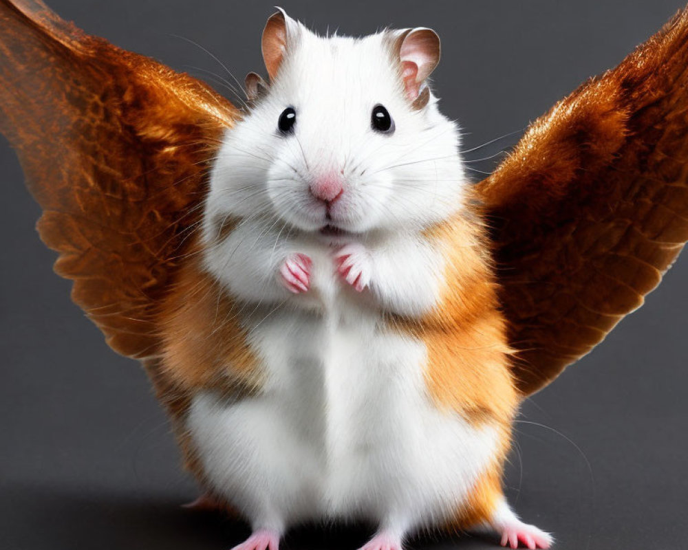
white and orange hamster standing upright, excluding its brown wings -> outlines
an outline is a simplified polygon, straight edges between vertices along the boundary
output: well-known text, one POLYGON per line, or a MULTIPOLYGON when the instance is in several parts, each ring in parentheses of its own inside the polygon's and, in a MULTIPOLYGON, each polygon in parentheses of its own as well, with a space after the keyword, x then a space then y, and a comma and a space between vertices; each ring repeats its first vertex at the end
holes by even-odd
POLYGON ((518 397, 460 132, 427 82, 438 36, 316 36, 280 11, 262 50, 270 83, 249 75, 204 204, 202 270, 241 334, 224 375, 246 382, 184 417, 206 498, 249 520, 239 550, 336 518, 378 526, 365 550, 429 528, 549 547, 502 492, 518 397))

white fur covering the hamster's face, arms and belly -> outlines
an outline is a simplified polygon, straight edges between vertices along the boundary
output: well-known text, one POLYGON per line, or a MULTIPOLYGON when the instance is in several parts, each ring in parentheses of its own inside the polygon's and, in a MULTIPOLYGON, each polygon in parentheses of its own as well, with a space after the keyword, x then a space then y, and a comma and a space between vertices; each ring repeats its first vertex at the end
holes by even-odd
POLYGON ((204 219, 206 269, 248 304, 266 386, 239 401, 199 393, 186 426, 214 489, 255 528, 363 516, 401 537, 454 511, 497 449, 495 430, 431 403, 424 344, 382 322, 437 303, 444 263, 421 232, 461 208, 458 129, 434 98, 411 109, 383 34, 324 39, 291 20, 288 34, 268 95, 225 136, 204 219), (394 135, 372 131, 378 103, 394 135), (280 135, 289 106, 295 132, 280 135), (345 190, 328 220, 308 186, 333 170, 345 190), (347 233, 325 237, 327 223, 347 233), (342 247, 361 294, 336 273, 342 247), (293 253, 312 259, 303 294, 277 277, 293 253))

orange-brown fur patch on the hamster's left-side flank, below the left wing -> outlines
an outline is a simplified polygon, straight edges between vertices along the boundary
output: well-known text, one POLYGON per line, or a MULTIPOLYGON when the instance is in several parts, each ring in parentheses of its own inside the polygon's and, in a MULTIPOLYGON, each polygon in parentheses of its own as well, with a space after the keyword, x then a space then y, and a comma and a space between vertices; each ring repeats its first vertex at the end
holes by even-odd
POLYGON ((203 389, 242 397, 259 391, 261 371, 239 325, 237 304, 200 267, 198 246, 178 272, 159 312, 162 353, 144 362, 160 403, 172 420, 184 467, 210 492, 184 417, 203 389))

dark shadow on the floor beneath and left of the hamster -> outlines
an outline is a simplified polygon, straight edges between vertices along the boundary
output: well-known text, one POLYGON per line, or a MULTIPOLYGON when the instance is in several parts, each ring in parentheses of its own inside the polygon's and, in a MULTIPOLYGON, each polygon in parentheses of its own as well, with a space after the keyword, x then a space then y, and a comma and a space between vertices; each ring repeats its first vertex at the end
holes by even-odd
MULTIPOLYGON (((228 550, 249 529, 211 511, 182 509, 180 496, 80 491, 3 483, 0 532, 8 550, 228 550)), ((355 550, 372 534, 361 525, 305 526, 281 550, 355 550)), ((495 548, 478 538, 416 538, 409 550, 495 548)))

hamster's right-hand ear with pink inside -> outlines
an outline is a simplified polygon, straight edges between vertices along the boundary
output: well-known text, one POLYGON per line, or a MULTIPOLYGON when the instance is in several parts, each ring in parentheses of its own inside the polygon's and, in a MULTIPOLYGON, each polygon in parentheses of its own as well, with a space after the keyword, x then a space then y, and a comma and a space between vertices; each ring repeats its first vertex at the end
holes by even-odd
POLYGON ((404 31, 400 36, 398 55, 406 96, 415 102, 423 80, 440 63, 440 37, 432 29, 424 27, 404 31))

